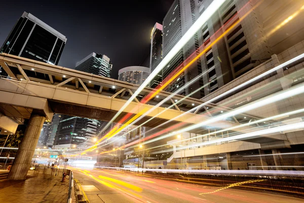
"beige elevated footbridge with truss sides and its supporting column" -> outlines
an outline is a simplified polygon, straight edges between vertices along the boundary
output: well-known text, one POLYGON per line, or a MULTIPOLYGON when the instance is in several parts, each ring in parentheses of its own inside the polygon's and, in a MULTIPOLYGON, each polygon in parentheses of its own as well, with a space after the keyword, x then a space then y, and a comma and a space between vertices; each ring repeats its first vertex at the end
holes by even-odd
MULTIPOLYGON (((109 121, 138 88, 137 85, 119 80, 9 54, 0 54, 0 65, 10 77, 0 79, 0 113, 11 119, 29 119, 24 141, 18 150, 9 176, 11 179, 25 179, 27 167, 32 158, 32 155, 29 155, 34 153, 43 122, 51 121, 53 113, 109 121)), ((171 95, 170 92, 161 91, 158 96, 146 104, 140 103, 152 90, 149 87, 144 88, 116 121, 127 113, 137 114, 143 109, 147 111, 171 95)), ((136 124, 141 124, 156 116, 172 104, 174 109, 167 109, 165 113, 156 116, 145 126, 155 127, 171 119, 170 125, 178 122, 186 122, 187 125, 191 125, 216 116, 220 111, 231 110, 209 104, 194 113, 176 118, 202 103, 203 101, 200 99, 175 95, 136 124), (183 100, 180 103, 176 103, 181 99, 183 100), (209 112, 208 109, 218 111, 209 112)), ((260 119, 257 116, 242 114, 233 117, 232 120, 219 121, 210 126, 214 128, 237 126, 241 123, 238 119, 243 117, 260 119)), ((248 130, 253 130, 253 127, 237 129, 239 132, 248 132, 248 130)), ((285 139, 283 138, 283 140, 285 139)))

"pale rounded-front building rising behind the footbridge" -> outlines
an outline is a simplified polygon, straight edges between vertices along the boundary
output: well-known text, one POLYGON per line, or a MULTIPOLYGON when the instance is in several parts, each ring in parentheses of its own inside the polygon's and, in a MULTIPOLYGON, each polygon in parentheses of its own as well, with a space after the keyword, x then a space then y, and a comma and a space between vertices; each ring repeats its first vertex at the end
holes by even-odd
POLYGON ((150 69, 143 66, 124 67, 118 71, 118 80, 141 85, 150 74, 150 69))

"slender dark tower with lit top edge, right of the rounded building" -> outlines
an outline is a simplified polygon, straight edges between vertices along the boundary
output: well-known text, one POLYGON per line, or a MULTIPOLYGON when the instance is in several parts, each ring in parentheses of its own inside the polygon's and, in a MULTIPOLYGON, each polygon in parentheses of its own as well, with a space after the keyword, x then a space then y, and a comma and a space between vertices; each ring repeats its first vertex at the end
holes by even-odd
MULTIPOLYGON (((156 23, 151 32, 150 72, 163 59, 163 25, 156 23)), ((150 87, 157 87, 162 82, 162 73, 159 73, 150 83, 150 87)))

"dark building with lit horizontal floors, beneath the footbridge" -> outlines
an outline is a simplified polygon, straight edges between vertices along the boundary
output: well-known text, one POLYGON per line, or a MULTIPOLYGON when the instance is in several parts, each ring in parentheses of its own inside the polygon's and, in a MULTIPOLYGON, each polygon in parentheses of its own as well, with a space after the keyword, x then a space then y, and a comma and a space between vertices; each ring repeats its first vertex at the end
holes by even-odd
POLYGON ((62 115, 54 141, 54 148, 75 148, 84 142, 92 144, 101 127, 101 121, 96 119, 62 115))

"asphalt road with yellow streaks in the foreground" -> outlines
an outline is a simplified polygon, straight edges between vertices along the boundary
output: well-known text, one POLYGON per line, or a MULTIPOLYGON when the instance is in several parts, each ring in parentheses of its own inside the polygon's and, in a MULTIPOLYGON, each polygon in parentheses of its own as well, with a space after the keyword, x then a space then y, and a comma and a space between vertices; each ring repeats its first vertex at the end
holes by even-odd
POLYGON ((304 202, 304 199, 233 188, 221 189, 113 170, 72 168, 90 203, 109 202, 304 202), (202 194, 203 193, 203 194, 202 194))

